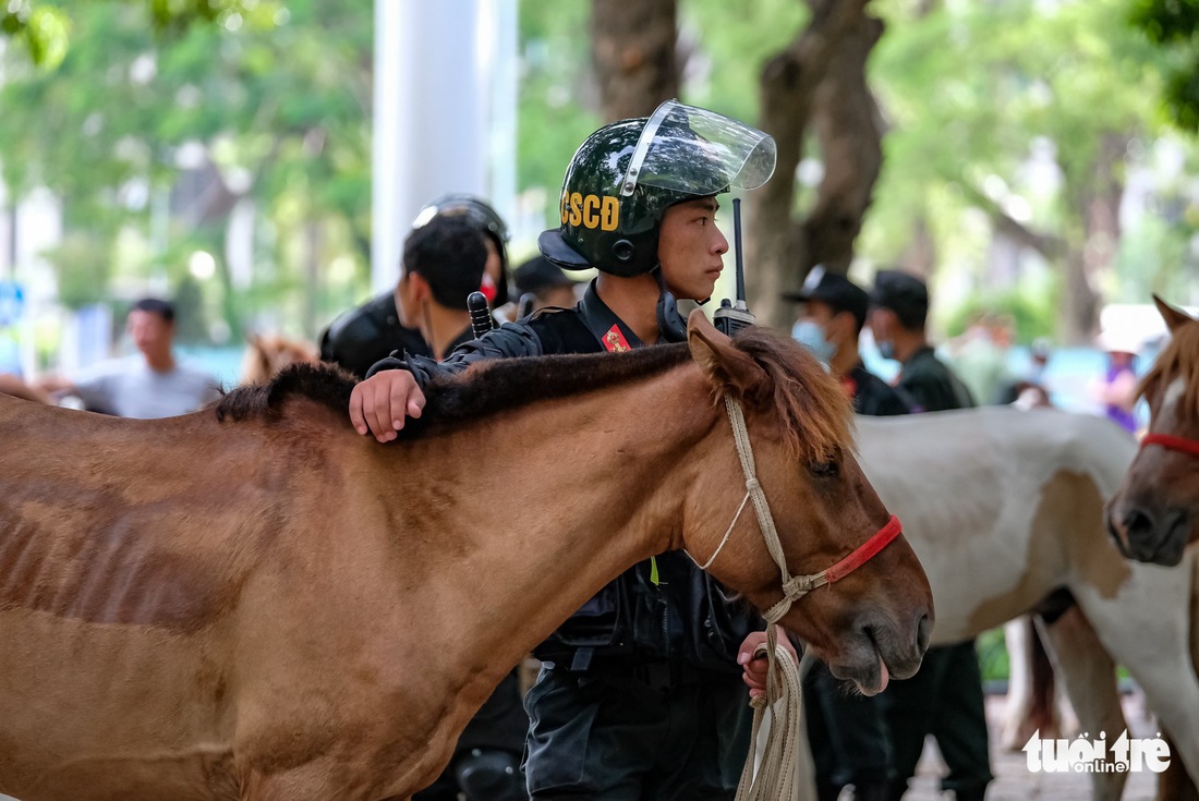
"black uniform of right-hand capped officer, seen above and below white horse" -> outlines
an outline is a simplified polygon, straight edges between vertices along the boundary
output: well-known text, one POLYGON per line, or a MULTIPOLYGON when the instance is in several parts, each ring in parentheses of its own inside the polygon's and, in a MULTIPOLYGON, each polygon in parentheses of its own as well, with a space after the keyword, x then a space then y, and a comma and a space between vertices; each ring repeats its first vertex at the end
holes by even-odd
MULTIPOLYGON (((975 405, 965 385, 927 347, 903 363, 898 387, 911 396, 920 411, 975 405)), ((994 777, 975 642, 928 649, 916 675, 893 680, 880 698, 898 771, 891 797, 903 795, 916 772, 924 737, 932 734, 950 769, 941 781, 942 789, 953 790, 958 801, 981 801, 994 777)))

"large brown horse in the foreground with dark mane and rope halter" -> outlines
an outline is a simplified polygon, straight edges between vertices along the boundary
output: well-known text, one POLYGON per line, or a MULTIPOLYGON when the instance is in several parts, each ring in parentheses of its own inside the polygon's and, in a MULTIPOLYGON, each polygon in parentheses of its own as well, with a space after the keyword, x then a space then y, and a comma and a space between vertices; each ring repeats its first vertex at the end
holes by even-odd
POLYGON ((631 565, 723 548, 711 572, 757 608, 797 595, 759 519, 791 572, 838 565, 782 618, 836 675, 920 664, 928 582, 902 535, 868 558, 896 528, 790 339, 695 313, 688 344, 478 365, 390 445, 350 390, 297 366, 161 421, 0 398, 0 793, 408 797, 631 565))

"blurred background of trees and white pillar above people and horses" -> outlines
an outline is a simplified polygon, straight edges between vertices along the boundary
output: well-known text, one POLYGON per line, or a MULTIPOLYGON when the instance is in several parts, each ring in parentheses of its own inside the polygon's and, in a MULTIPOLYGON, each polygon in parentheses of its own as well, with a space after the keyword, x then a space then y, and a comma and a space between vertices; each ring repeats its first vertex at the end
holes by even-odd
POLYGON ((314 339, 391 285, 440 193, 489 199, 519 264, 574 146, 677 96, 779 143, 745 204, 759 319, 789 327, 779 293, 815 264, 909 270, 947 353, 998 319, 1011 372, 1037 341, 1055 402, 1093 409, 1096 337, 1147 366, 1151 294, 1199 303, 1197 20, 1168 0, 10 0, 0 371, 128 351, 125 311, 156 294, 231 384, 247 335, 314 339))

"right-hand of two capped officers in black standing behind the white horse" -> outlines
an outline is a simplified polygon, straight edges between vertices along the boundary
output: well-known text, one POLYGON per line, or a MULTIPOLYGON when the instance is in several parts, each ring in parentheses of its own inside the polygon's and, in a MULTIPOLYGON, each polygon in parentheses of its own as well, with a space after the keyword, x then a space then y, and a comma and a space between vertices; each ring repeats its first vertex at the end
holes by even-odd
MULTIPOLYGON (((914 411, 974 406, 965 385, 936 357, 924 330, 928 288, 898 270, 881 270, 870 291, 870 329, 887 359, 900 362, 897 386, 914 411)), ((941 788, 958 801, 982 801, 990 783, 982 673, 972 639, 930 648, 916 675, 894 680, 879 695, 887 717, 897 776, 890 797, 898 801, 916 772, 924 737, 932 734, 950 769, 941 788)))

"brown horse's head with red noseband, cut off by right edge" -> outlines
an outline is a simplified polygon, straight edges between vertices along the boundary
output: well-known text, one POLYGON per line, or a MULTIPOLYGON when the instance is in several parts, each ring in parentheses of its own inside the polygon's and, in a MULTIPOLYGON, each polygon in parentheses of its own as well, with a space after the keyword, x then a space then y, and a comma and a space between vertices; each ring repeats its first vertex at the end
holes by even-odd
POLYGON ((1177 565, 1199 540, 1199 320, 1156 295, 1170 342, 1140 384, 1149 433, 1107 508, 1108 530, 1132 559, 1177 565))

